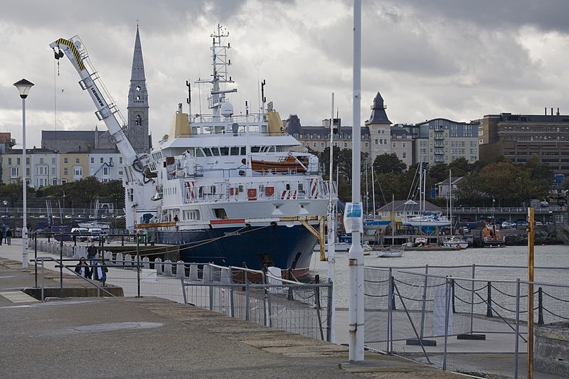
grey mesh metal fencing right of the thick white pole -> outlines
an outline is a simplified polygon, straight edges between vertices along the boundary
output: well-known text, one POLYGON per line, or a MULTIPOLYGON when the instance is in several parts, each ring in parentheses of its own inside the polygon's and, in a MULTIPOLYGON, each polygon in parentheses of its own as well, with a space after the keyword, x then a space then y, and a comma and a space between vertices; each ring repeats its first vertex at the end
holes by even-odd
MULTIPOLYGON (((569 320, 569 267, 535 267, 539 282, 520 279, 523 269, 366 267, 366 346, 443 370, 461 367, 459 353, 509 353, 509 375, 517 378, 519 341, 528 338, 528 289, 537 288, 536 328, 569 320)), ((544 367, 543 357, 534 361, 544 367)))

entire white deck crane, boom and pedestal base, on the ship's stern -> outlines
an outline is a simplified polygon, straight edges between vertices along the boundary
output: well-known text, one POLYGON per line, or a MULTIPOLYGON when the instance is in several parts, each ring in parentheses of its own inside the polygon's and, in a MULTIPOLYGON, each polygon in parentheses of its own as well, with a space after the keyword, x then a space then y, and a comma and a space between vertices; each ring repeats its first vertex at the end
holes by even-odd
MULTIPOLYGON (((130 208, 133 208, 133 215, 144 212, 156 213, 156 204, 153 204, 150 200, 152 194, 156 191, 154 180, 144 176, 144 169, 149 162, 148 154, 134 151, 132 144, 130 144, 126 134, 124 134, 124 128, 127 127, 127 123, 91 64, 83 42, 79 36, 75 36, 70 39, 59 38, 57 41, 50 43, 49 46, 53 49, 56 60, 63 58, 63 55, 67 55, 73 67, 79 73, 81 78, 79 82, 80 87, 89 93, 97 108, 97 112, 95 112, 97 119, 105 122, 110 132, 111 141, 116 144, 125 161, 124 171, 126 178, 124 179, 124 185, 126 187, 126 204, 130 204, 130 208)), ((129 219, 128 213, 129 210, 127 209, 127 219, 129 219)), ((132 226, 127 222, 127 228, 132 226)))

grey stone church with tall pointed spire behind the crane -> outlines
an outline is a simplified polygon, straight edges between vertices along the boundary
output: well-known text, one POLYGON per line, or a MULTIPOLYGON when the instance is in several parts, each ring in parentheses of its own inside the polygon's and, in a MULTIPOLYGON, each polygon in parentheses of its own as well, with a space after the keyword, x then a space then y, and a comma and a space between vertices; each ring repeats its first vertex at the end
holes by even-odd
MULTIPOLYGON (((132 58, 132 73, 128 95, 128 117, 124 125, 126 134, 132 147, 137 153, 149 153, 152 148, 151 135, 148 131, 148 90, 144 75, 144 60, 140 43, 139 28, 134 40, 134 56, 132 58)), ((115 151, 110 134, 103 125, 104 130, 42 130, 41 146, 43 149, 57 150, 66 153, 92 153, 95 151, 115 151)))

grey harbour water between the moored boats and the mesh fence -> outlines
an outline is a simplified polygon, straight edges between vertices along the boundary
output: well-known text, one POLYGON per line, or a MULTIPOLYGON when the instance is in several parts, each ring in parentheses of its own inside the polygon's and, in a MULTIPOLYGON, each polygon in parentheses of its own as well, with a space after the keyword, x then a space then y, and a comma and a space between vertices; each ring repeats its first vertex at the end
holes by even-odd
MULTIPOLYGON (((535 246, 533 248, 534 267, 555 267, 569 269, 569 245, 546 245, 535 246)), ((506 246, 506 247, 486 247, 471 248, 465 250, 429 250, 429 251, 406 251, 403 257, 398 258, 378 258, 373 255, 364 257, 366 267, 425 267, 429 266, 464 266, 464 265, 496 265, 496 266, 516 266, 527 267, 528 247, 527 246, 506 246)), ((310 268, 310 277, 319 275, 320 281, 328 280, 328 262, 319 260, 318 252, 314 252, 310 268)), ((336 293, 336 308, 347 308, 349 290, 349 267, 348 253, 336 253, 334 265, 336 293)), ((503 279, 496 277, 496 279, 503 279)), ((527 280, 527 272, 521 280, 527 280)), ((547 277, 534 280, 543 280, 551 283, 560 283, 563 278, 547 277)), ((563 279, 564 281, 565 279, 563 279)))

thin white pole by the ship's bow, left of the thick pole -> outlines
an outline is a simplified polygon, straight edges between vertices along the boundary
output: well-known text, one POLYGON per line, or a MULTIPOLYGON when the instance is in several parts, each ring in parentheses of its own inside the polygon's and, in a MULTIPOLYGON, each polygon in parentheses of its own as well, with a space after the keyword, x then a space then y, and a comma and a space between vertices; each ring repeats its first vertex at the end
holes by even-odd
MULTIPOLYGON (((330 118, 330 169, 329 169, 329 201, 328 201, 328 282, 334 283, 336 276, 336 215, 334 213, 334 203, 332 202, 332 169, 334 161, 334 92, 332 92, 332 112, 330 118)), ((336 341, 336 289, 332 286, 332 311, 330 319, 330 342, 336 341)))

